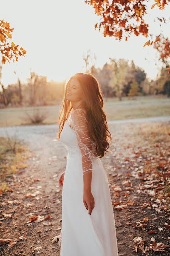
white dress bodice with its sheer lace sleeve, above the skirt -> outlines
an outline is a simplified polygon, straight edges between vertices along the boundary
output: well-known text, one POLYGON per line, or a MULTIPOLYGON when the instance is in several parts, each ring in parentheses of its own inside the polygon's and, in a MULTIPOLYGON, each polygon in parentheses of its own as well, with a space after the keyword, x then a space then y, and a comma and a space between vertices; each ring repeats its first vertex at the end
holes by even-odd
POLYGON ((83 175, 92 172, 96 156, 96 143, 91 138, 87 116, 82 109, 75 109, 65 121, 60 140, 68 150, 68 157, 81 158, 83 175))

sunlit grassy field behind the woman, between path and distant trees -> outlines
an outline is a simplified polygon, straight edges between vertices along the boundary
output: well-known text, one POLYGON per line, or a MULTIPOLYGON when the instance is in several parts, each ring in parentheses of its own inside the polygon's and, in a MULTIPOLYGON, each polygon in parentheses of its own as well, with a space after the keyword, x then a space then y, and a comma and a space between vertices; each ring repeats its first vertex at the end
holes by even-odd
MULTIPOLYGON (((108 120, 131 119, 151 116, 170 116, 170 98, 167 96, 137 96, 136 99, 115 98, 104 99, 104 111, 108 120)), ((47 112, 47 118, 43 124, 58 123, 59 105, 36 107, 41 113, 47 112)), ((26 117, 27 111, 33 113, 32 107, 4 108, 0 109, 0 126, 28 125, 22 117, 26 117)))

